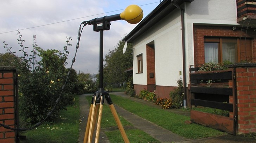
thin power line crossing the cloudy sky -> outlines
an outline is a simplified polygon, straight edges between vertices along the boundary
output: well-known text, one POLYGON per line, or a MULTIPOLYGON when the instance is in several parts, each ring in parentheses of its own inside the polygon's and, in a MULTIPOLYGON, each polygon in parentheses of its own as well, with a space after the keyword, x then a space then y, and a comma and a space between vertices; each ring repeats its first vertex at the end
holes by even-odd
MULTIPOLYGON (((145 5, 140 5, 140 6, 151 5, 151 4, 154 4, 154 3, 159 3, 159 1, 158 1, 158 2, 147 3, 147 4, 145 4, 145 5)), ((120 10, 124 10, 124 9, 113 10, 113 11, 105 12, 105 13, 112 13, 112 12, 116 12, 116 11, 120 11, 120 10)), ((101 15, 101 14, 105 14, 105 13, 99 13, 99 14, 94 14, 94 15, 90 15, 90 16, 84 16, 84 17, 79 17, 79 18, 75 18, 75 19, 70 19, 70 20, 65 20, 65 21, 60 21, 60 22, 55 22, 55 23, 50 23, 50 24, 44 24, 44 25, 34 26, 34 27, 29 27, 29 28, 24 28, 24 29, 18 29, 18 30, 21 31, 21 30, 26 30, 26 29, 32 29, 32 28, 37 28, 37 27, 43 27, 43 26, 48 26, 48 25, 52 25, 52 24, 57 24, 57 23, 62 23, 62 22, 68 22, 68 21, 72 21, 72 20, 83 19, 83 18, 86 18, 86 17, 101 15)), ((15 31, 17 31, 17 30, 8 31, 8 32, 3 32, 3 33, 0 33, 0 34, 11 33, 11 32, 15 32, 15 31)))

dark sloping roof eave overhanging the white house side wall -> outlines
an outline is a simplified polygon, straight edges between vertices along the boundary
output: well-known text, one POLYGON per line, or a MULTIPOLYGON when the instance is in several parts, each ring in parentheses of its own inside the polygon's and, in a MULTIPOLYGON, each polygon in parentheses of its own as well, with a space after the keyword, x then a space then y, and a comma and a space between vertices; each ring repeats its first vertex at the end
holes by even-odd
POLYGON ((143 34, 149 28, 154 26, 167 14, 171 13, 177 7, 173 5, 180 6, 184 2, 192 2, 194 0, 164 0, 162 1, 151 13, 149 13, 145 19, 143 19, 127 36, 125 36, 122 41, 132 43, 138 36, 143 34))

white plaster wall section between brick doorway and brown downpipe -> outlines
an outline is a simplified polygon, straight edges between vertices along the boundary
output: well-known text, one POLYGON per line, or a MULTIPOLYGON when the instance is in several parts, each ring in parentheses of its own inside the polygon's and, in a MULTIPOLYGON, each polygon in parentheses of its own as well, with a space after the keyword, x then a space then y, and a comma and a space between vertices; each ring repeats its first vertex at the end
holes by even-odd
POLYGON ((180 23, 167 29, 168 32, 155 40, 156 85, 177 86, 183 71, 180 23))

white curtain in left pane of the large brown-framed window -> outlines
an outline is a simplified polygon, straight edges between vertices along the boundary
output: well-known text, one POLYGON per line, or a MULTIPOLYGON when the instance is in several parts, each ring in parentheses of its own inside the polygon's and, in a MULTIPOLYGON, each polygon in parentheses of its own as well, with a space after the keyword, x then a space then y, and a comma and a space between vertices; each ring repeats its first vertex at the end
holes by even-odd
POLYGON ((218 43, 204 43, 204 59, 205 63, 219 63, 218 43))

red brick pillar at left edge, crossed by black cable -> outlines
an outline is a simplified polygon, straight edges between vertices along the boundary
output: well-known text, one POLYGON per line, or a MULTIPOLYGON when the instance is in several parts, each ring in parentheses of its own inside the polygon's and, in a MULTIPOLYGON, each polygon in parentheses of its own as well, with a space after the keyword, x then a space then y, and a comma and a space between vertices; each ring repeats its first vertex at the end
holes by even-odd
MULTIPOLYGON (((16 128, 15 85, 16 70, 0 66, 0 123, 16 128)), ((0 143, 15 143, 16 131, 0 127, 0 143)))

